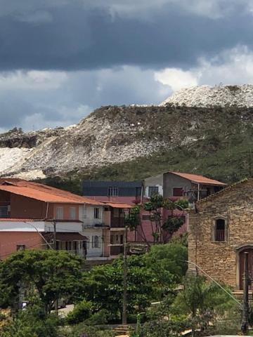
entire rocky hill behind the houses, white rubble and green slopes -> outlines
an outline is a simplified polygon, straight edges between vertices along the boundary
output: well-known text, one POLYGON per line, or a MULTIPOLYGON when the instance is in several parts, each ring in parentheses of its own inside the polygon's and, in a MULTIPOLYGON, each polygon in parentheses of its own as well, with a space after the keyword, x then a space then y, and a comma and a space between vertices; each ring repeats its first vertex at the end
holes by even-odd
MULTIPOLYGON (((251 87, 233 89, 237 100, 231 104, 228 95, 221 100, 200 94, 216 91, 205 86, 186 89, 181 100, 179 91, 159 107, 101 107, 68 128, 15 128, 0 135, 0 175, 76 184, 76 191, 82 178, 139 179, 168 170, 228 183, 252 176, 253 107, 244 105, 242 95, 251 87), (186 106, 193 101, 200 106, 186 106)), ((222 97, 233 90, 222 87, 222 97)))

